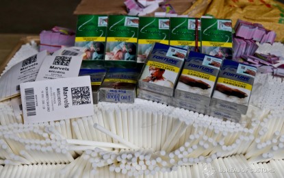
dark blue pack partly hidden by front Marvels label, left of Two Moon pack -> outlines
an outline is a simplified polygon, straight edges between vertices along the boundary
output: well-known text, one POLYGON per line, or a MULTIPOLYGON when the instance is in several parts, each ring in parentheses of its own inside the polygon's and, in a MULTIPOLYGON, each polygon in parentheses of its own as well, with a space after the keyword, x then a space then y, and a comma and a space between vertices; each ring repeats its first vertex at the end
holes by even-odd
POLYGON ((105 78, 105 69, 89 69, 81 68, 79 71, 79 76, 90 75, 91 87, 92 87, 92 101, 94 104, 99 103, 99 88, 105 78))

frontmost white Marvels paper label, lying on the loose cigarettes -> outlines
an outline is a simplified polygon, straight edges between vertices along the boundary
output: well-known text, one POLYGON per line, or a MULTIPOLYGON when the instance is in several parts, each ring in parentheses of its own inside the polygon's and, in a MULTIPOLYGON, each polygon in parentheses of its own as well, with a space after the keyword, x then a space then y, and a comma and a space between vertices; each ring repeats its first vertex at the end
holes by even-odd
POLYGON ((92 116, 90 76, 21 84, 25 123, 92 116))

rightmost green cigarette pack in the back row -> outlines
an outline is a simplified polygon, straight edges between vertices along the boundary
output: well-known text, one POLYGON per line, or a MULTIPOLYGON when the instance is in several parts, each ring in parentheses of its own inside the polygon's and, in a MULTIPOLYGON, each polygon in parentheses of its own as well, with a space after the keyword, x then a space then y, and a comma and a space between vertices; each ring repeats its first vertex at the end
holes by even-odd
POLYGON ((229 19, 201 18, 202 53, 233 58, 232 22, 229 19))

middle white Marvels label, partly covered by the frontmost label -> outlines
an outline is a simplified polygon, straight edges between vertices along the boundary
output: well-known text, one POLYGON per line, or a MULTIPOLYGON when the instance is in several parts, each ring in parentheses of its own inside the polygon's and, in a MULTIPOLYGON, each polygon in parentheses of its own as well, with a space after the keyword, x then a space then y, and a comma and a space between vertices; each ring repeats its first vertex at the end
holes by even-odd
POLYGON ((81 56, 47 56, 38 71, 36 81, 77 77, 81 67, 81 56))

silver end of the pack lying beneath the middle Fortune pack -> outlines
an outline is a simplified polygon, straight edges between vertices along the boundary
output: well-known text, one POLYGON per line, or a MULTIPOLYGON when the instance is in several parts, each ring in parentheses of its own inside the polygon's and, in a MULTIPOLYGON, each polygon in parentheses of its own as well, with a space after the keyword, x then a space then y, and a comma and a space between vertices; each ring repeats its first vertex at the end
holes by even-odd
POLYGON ((184 108, 185 110, 190 110, 193 112, 198 112, 198 113, 207 113, 209 110, 208 105, 202 105, 198 103, 193 103, 190 101, 184 101, 181 99, 177 99, 175 97, 172 98, 171 105, 175 107, 181 107, 184 108))

